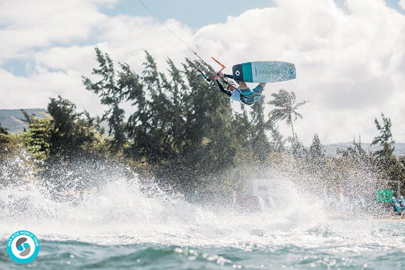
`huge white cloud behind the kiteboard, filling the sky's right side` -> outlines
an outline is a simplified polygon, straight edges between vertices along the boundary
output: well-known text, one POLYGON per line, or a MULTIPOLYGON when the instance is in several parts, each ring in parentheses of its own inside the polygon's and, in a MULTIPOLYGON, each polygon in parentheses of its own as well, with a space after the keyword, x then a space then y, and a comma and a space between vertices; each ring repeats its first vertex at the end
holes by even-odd
MULTIPOLYGON (((332 1, 279 1, 275 8, 201 28, 195 38, 226 63, 295 63, 298 78, 269 84, 267 91, 282 87, 311 101, 301 109, 304 120, 296 122, 306 143, 313 132, 326 142, 351 141, 358 133, 371 141, 373 120, 381 112, 396 125, 395 138, 405 141, 401 106, 392 100, 403 92, 398 81, 404 77, 405 17, 382 1, 347 1, 347 7, 344 13, 332 1), (216 35, 218 28, 226 35, 216 35)), ((283 125, 282 131, 291 133, 283 125)))

